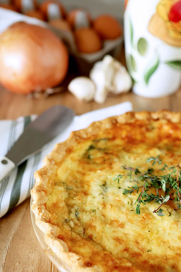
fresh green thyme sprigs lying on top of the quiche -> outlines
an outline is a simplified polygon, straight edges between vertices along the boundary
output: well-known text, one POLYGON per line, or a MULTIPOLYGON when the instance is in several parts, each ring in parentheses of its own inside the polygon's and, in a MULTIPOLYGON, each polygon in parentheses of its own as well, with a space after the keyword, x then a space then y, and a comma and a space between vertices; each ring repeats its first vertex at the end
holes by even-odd
POLYGON ((123 176, 129 177, 129 180, 132 181, 132 178, 137 178, 143 181, 143 186, 138 186, 134 184, 127 189, 123 189, 123 194, 132 194, 136 191, 138 194, 139 190, 142 188, 141 192, 136 199, 136 214, 140 214, 140 204, 146 205, 146 203, 150 203, 151 201, 157 202, 160 204, 158 208, 155 208, 153 213, 157 213, 158 216, 164 216, 163 209, 161 208, 164 203, 169 201, 170 199, 170 191, 174 191, 176 193, 176 197, 174 202, 176 202, 181 208, 181 168, 180 165, 173 165, 172 167, 167 166, 165 163, 163 164, 162 160, 159 156, 150 157, 146 162, 152 162, 152 165, 156 163, 158 165, 162 165, 162 168, 159 169, 164 172, 163 175, 155 175, 154 169, 148 167, 147 171, 141 173, 139 167, 132 168, 127 166, 122 166, 122 169, 127 170, 129 173, 124 175, 117 175, 113 180, 117 180, 118 184, 120 179, 123 176), (150 188, 156 189, 156 194, 149 192, 150 188), (164 196, 160 195, 158 190, 164 192, 164 196))

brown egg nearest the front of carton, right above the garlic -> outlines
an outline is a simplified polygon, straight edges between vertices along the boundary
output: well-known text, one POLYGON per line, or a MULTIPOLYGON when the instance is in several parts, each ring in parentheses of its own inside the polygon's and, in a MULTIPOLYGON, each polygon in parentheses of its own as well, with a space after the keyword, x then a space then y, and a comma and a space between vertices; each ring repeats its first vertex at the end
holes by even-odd
POLYGON ((101 50, 102 41, 93 28, 82 27, 74 32, 77 50, 82 53, 93 53, 101 50))

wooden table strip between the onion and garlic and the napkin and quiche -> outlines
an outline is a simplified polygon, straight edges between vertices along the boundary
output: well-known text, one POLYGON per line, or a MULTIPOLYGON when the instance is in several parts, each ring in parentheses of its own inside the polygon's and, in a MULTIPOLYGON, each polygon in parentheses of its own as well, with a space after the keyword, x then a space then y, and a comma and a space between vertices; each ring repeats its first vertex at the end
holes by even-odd
POLYGON ((49 107, 62 104, 74 109, 77 115, 90 110, 101 109, 102 107, 112 106, 124 101, 131 101, 135 111, 140 110, 180 110, 181 89, 170 97, 162 98, 144 98, 135 95, 131 91, 127 94, 113 95, 110 94, 104 104, 97 104, 93 101, 89 103, 76 100, 68 91, 59 94, 53 94, 48 98, 28 99, 23 95, 12 94, 4 89, 0 89, 0 119, 15 119, 21 115, 40 114, 49 107))

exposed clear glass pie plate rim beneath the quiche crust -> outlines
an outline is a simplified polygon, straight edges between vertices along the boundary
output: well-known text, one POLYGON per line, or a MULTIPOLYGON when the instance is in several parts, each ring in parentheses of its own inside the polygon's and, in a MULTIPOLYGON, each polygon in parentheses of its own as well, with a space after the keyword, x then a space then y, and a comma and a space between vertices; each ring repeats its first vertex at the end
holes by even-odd
POLYGON ((39 229, 39 227, 37 227, 36 222, 35 222, 35 215, 31 211, 32 202, 33 202, 33 199, 31 197, 30 198, 31 221, 32 221, 32 224, 33 224, 33 228, 34 228, 34 232, 36 234, 36 237, 37 237, 40 245, 42 246, 43 251, 48 256, 48 258, 50 259, 50 261, 52 261, 52 263, 56 266, 56 268, 58 268, 58 270, 60 272, 71 272, 71 268, 65 262, 63 262, 62 260, 60 260, 55 255, 55 253, 53 253, 53 251, 49 248, 49 246, 45 243, 44 233, 39 229))

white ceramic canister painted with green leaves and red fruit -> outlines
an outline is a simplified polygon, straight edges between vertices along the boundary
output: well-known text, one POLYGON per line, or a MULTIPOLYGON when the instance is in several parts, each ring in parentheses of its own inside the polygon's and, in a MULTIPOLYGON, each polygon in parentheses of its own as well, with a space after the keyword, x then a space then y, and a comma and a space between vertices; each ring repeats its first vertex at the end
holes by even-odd
POLYGON ((133 92, 170 95, 181 84, 181 0, 127 0, 125 54, 133 92))

